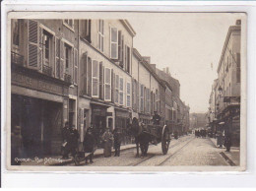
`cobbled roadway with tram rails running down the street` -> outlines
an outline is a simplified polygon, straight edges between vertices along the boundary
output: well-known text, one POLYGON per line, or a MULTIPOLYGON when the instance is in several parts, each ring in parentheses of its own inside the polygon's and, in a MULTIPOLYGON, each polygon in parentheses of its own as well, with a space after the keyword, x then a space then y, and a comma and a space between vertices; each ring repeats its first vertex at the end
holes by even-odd
MULTIPOLYGON (((209 138, 194 135, 172 139, 167 155, 162 155, 161 145, 151 145, 146 158, 136 158, 136 149, 121 152, 119 158, 96 158, 90 166, 174 166, 174 165, 228 165, 209 138)), ((70 165, 70 164, 69 164, 70 165)), ((72 163, 72 165, 75 165, 72 163)), ((86 165, 82 163, 82 165, 86 165)))

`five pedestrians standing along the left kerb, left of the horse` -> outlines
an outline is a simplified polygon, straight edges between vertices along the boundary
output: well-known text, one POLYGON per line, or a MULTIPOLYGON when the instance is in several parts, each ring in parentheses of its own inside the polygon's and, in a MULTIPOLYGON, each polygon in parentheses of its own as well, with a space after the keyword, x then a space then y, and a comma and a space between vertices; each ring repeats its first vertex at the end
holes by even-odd
MULTIPOLYGON (((65 126, 62 130, 63 144, 62 144, 62 158, 68 159, 71 154, 74 158, 76 153, 78 152, 78 140, 79 133, 75 126, 69 127, 69 122, 65 123, 65 126)), ((86 163, 90 161, 94 162, 94 153, 96 152, 97 140, 96 131, 91 124, 86 131, 84 142, 83 142, 83 152, 85 154, 86 163)), ((112 144, 114 145, 115 157, 120 157, 120 147, 122 142, 122 132, 120 128, 115 128, 113 132, 110 131, 108 127, 105 128, 104 133, 99 138, 100 143, 102 143, 103 148, 103 156, 104 158, 111 157, 112 144)))

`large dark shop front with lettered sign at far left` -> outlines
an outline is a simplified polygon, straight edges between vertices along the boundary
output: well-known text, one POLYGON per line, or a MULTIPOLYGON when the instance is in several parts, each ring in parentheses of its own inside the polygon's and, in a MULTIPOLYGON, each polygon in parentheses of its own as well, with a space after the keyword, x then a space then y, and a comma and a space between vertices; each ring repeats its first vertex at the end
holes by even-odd
POLYGON ((59 155, 68 85, 27 69, 13 70, 11 80, 11 132, 21 127, 23 157, 59 155))

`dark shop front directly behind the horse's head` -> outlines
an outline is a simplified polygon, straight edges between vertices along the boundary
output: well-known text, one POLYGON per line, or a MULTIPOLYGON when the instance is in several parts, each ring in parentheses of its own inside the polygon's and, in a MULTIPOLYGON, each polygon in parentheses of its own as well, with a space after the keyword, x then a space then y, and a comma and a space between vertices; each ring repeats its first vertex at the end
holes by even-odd
POLYGON ((122 130, 122 145, 132 143, 131 129, 132 113, 125 109, 115 108, 115 128, 121 128, 122 130))

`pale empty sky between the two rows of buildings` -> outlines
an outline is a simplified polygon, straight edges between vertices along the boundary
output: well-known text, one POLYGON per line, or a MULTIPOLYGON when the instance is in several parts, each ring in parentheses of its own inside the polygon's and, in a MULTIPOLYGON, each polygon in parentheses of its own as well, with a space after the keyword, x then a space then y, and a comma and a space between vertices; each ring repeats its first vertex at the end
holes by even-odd
POLYGON ((241 15, 231 13, 137 14, 129 18, 136 32, 133 46, 179 80, 180 98, 190 112, 207 112, 212 84, 229 26, 241 15), (213 63, 213 67, 211 67, 213 63))

